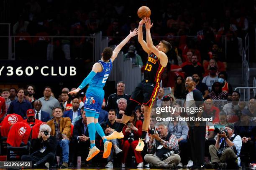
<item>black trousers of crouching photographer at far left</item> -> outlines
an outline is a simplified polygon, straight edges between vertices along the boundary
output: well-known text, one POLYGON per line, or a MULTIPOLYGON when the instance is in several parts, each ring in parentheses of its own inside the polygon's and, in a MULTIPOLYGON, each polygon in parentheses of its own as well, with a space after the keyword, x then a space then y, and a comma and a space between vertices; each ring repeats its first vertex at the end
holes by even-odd
POLYGON ((43 158, 37 157, 37 156, 31 156, 31 155, 22 155, 21 160, 22 161, 32 161, 32 164, 38 165, 38 166, 44 166, 45 163, 49 163, 52 165, 54 162, 54 154, 53 153, 48 153, 46 156, 43 158))

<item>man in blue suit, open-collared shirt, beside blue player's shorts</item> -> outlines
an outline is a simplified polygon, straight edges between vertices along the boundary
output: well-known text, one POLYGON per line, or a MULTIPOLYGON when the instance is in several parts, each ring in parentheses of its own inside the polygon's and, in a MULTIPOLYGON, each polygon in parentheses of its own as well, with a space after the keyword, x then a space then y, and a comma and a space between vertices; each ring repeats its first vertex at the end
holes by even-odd
POLYGON ((81 109, 79 109, 80 101, 78 98, 72 100, 72 110, 64 112, 63 117, 69 117, 72 125, 74 125, 74 120, 77 116, 81 115, 81 109))

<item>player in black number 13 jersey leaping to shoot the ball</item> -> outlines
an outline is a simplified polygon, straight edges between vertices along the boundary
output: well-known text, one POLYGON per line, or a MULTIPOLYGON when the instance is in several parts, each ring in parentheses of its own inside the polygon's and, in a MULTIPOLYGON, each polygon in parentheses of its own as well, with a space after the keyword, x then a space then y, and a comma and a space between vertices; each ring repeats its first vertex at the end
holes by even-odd
POLYGON ((123 127, 130 120, 131 114, 135 107, 139 104, 145 105, 144 107, 144 121, 142 125, 142 136, 136 146, 137 151, 142 151, 144 147, 143 140, 148 132, 148 127, 150 123, 150 113, 151 107, 154 104, 156 95, 159 91, 161 81, 161 74, 164 72, 164 67, 166 67, 168 58, 166 52, 171 49, 171 44, 167 41, 160 41, 158 45, 154 46, 151 38, 150 28, 153 26, 151 24, 150 18, 144 18, 140 21, 138 27, 138 41, 141 44, 143 50, 148 53, 148 60, 146 62, 146 67, 144 70, 144 80, 142 80, 138 86, 133 91, 129 103, 126 107, 125 114, 123 115, 121 122, 111 135, 107 136, 108 140, 123 138, 123 127), (146 25, 146 41, 143 40, 142 26, 146 25))

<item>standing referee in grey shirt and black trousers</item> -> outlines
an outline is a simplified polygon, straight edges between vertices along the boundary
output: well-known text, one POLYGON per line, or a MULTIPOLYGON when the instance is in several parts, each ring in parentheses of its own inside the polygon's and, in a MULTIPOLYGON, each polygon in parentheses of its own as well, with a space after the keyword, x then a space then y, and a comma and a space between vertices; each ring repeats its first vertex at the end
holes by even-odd
MULTIPOLYGON (((186 79, 185 86, 189 91, 186 96, 186 107, 189 107, 190 112, 187 112, 189 117, 189 140, 191 145, 191 154, 193 160, 192 169, 204 169, 205 164, 205 122, 194 121, 192 117, 204 117, 203 112, 198 110, 192 112, 192 109, 202 107, 202 93, 195 88, 195 78, 189 76, 186 79)), ((201 108, 202 109, 202 108, 201 108)), ((186 109, 187 110, 187 109, 186 109)), ((203 109, 202 109, 203 110, 203 109)))

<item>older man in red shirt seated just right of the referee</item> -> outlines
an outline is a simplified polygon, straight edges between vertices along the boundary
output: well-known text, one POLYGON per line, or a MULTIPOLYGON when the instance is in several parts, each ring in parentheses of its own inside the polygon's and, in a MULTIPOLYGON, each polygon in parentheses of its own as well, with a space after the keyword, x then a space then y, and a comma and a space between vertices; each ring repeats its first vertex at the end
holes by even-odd
POLYGON ((212 123, 214 124, 215 122, 218 123, 219 120, 219 112, 220 110, 218 107, 215 107, 213 105, 212 99, 207 99, 204 102, 204 111, 207 117, 212 117, 212 123))

